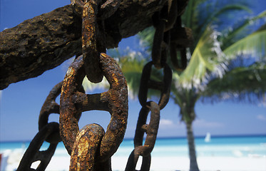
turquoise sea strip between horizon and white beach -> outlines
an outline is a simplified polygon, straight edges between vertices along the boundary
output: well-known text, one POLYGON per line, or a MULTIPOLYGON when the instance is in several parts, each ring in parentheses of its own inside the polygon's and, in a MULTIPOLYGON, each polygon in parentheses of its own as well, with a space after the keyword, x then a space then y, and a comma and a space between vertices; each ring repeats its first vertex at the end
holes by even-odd
MULTIPOLYGON (((24 151, 30 142, 0 142, 0 153, 6 151, 24 151)), ((49 143, 44 142, 41 150, 46 150, 49 143)), ((128 157, 133 150, 133 140, 125 139, 113 157, 128 157)), ((266 135, 195 138, 198 157, 266 157, 266 135)), ((158 138, 152 156, 188 157, 186 138, 158 138)), ((63 142, 56 148, 54 156, 68 156, 63 142)))

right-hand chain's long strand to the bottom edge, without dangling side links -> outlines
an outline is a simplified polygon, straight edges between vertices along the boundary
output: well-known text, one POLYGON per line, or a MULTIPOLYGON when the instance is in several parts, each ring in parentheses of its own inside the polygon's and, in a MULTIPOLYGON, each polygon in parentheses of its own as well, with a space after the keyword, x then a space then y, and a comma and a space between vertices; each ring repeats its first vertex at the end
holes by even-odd
MULTIPOLYGON (((176 8, 176 2, 173 3, 173 6, 176 8)), ((176 13, 175 8, 171 8, 170 11, 176 13)), ((138 100, 142 106, 139 116, 137 128, 135 130, 134 137, 134 150, 131 152, 131 155, 128 157, 128 163, 126 165, 126 171, 135 171, 135 167, 138 162, 139 156, 143 156, 143 161, 140 167, 141 171, 150 170, 150 153, 153 150, 155 145, 155 140, 158 133, 158 127, 160 123, 160 110, 162 110, 165 105, 167 105, 170 98, 170 86, 172 83, 172 70, 166 63, 168 56, 168 43, 170 42, 169 29, 173 26, 173 19, 167 20, 167 6, 165 6, 160 14, 155 14, 153 18, 155 21, 155 35, 153 39, 153 48, 152 48, 152 59, 147 63, 143 68, 143 73, 140 78, 140 88, 138 91, 138 100), (166 28, 166 29, 165 29, 166 28), (163 68, 163 81, 153 81, 150 79, 152 73, 152 66, 160 69, 163 68), (160 91, 160 100, 158 103, 154 101, 147 101, 148 99, 148 89, 155 89, 160 91), (150 123, 146 124, 148 113, 150 113, 150 123), (143 145, 144 133, 147 134, 145 142, 143 145)))

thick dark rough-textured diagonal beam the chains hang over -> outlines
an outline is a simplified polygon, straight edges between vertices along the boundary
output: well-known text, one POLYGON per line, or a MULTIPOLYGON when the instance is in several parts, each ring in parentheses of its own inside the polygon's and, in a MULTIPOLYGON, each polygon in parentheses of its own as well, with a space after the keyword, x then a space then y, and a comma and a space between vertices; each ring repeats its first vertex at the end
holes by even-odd
MULTIPOLYGON (((151 17, 166 0, 124 0, 104 21, 107 48, 152 25, 151 17)), ((0 33, 0 90, 81 54, 81 18, 71 5, 26 20, 0 33)))

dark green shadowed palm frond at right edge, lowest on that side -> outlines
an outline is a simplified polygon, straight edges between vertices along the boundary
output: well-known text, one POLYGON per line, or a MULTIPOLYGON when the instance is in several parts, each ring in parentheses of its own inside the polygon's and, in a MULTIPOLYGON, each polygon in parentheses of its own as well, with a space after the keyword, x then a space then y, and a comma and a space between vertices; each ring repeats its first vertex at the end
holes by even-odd
MULTIPOLYGON (((216 100, 237 98, 238 100, 261 99, 266 93, 266 63, 254 63, 227 71, 222 78, 208 83, 203 95, 216 100)), ((252 101, 251 100, 251 101, 252 101)))

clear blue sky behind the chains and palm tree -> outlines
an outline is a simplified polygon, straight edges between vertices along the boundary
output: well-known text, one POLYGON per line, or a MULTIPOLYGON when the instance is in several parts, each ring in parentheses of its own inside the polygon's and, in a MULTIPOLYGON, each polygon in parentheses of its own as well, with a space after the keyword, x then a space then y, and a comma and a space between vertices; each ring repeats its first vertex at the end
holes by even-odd
MULTIPOLYGON (((262 0, 263 1, 263 0, 262 0)), ((0 31, 11 28, 25 19, 44 14, 60 6, 69 4, 66 0, 1 0, 0 31)), ((264 2, 265 4, 265 2, 264 2)), ((257 10, 262 11, 263 7, 257 10)), ((135 37, 121 41, 119 48, 137 48, 135 37)), ((41 106, 49 91, 63 80, 71 61, 66 61, 37 78, 13 83, 1 91, 0 99, 0 141, 31 140, 38 133, 38 119, 41 106)), ((87 92, 93 93, 93 92, 87 92)), ((126 138, 132 138, 138 119, 140 105, 138 100, 129 101, 128 128, 126 138)), ((194 123, 195 135, 257 135, 266 134, 266 107, 247 103, 202 103, 195 107, 197 119, 194 123)), ((102 111, 83 113, 80 128, 89 123, 99 123, 106 129, 110 115, 102 111)), ((58 115, 51 115, 49 121, 57 121, 58 115)), ((161 110, 158 137, 185 136, 185 125, 180 122, 179 108, 170 100, 161 110)))

